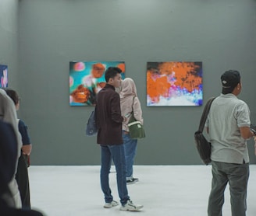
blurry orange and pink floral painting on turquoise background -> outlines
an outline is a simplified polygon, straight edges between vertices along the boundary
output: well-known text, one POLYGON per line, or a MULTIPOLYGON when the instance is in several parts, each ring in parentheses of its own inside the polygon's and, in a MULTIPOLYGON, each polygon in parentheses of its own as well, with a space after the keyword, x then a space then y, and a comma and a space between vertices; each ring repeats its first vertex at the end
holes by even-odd
POLYGON ((69 105, 94 106, 96 94, 105 86, 105 71, 108 67, 120 68, 125 78, 124 61, 70 61, 69 105))

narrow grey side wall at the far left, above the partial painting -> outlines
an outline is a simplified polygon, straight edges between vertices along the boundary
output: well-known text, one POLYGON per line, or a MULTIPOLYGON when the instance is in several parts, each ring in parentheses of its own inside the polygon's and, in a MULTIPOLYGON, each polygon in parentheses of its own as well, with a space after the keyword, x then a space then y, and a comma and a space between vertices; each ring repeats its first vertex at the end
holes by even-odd
POLYGON ((0 64, 7 64, 9 83, 18 89, 18 0, 0 0, 0 64))

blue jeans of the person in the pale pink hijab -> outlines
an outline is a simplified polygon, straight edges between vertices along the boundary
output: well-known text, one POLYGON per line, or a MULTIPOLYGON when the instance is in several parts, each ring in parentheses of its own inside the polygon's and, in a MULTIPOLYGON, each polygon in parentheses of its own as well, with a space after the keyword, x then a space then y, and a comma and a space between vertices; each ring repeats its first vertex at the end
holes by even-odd
POLYGON ((133 162, 136 155, 137 140, 131 139, 130 134, 123 132, 123 146, 126 155, 126 180, 133 179, 133 162))

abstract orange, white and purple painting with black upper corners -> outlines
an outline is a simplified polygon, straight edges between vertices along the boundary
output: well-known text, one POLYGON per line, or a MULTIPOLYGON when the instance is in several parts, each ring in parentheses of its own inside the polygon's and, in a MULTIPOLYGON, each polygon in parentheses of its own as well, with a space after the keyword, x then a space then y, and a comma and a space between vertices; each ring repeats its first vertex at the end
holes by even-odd
POLYGON ((201 61, 148 62, 147 106, 201 106, 201 61))

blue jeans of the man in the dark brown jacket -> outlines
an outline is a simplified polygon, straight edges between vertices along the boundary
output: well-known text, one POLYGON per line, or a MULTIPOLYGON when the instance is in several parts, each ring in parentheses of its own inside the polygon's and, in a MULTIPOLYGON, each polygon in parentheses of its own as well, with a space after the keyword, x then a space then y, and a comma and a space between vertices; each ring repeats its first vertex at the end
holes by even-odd
POLYGON ((126 187, 126 162, 123 145, 101 145, 101 190, 104 193, 105 202, 111 203, 113 197, 109 187, 108 175, 112 160, 116 166, 116 181, 120 202, 125 205, 130 197, 126 187))

